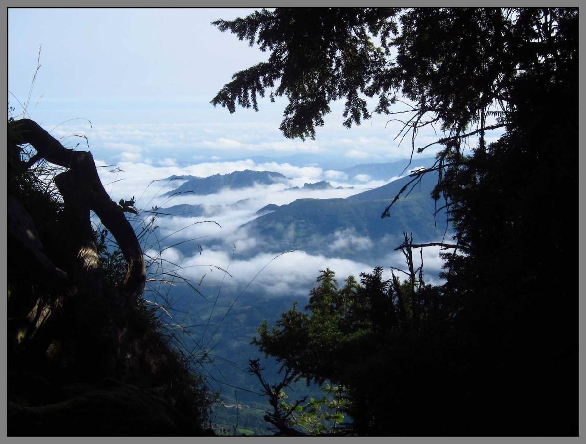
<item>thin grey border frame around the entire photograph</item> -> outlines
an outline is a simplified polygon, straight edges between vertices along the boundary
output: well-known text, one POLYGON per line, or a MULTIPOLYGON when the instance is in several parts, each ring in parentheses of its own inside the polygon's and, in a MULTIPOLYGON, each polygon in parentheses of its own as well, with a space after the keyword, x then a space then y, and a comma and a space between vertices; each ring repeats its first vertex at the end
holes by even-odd
MULTIPOLYGON (((551 0, 544 1, 544 0, 517 0, 515 2, 515 6, 553 6, 554 2, 551 0)), ((122 2, 115 2, 115 1, 107 1, 101 3, 99 6, 97 2, 94 0, 57 0, 52 2, 52 4, 47 4, 47 2, 43 2, 42 0, 2 0, 2 23, 6 24, 6 32, 1 33, 1 40, 0 40, 0 50, 2 54, 4 52, 8 52, 8 8, 80 8, 80 7, 94 7, 94 8, 271 8, 276 6, 359 6, 357 0, 314 0, 314 1, 297 1, 294 0, 253 0, 244 2, 237 2, 237 0, 195 0, 195 1, 188 1, 188 0, 172 0, 170 2, 161 2, 160 0, 123 0, 122 2)), ((383 0, 370 0, 367 2, 366 5, 360 6, 510 6, 507 5, 507 2, 498 1, 495 2, 494 0, 490 1, 478 1, 478 0, 468 0, 468 1, 447 1, 441 2, 438 4, 437 2, 432 2, 432 0, 423 0, 423 1, 415 1, 415 2, 407 2, 406 0, 402 0, 399 2, 396 1, 383 1, 383 0)), ((578 1, 570 1, 570 2, 563 2, 563 4, 557 4, 556 6, 560 7, 579 7, 580 4, 578 1)), ((580 20, 580 31, 582 31, 582 20, 580 20)), ((582 55, 584 53, 584 47, 586 46, 586 42, 584 39, 584 33, 581 32, 580 35, 580 58, 582 59, 582 55)), ((4 92, 5 103, 8 103, 8 54, 3 57, 3 60, 6 62, 6 69, 2 70, 2 76, 6 76, 5 84, 6 90, 4 92)), ((583 59, 582 59, 583 60, 583 59)), ((580 69, 582 70, 584 67, 584 63, 580 62, 580 69)), ((583 77, 583 76, 582 76, 583 77)), ((582 113, 582 105, 584 104, 584 82, 582 81, 582 77, 579 80, 580 86, 580 94, 579 94, 579 101, 580 101, 580 128, 578 130, 578 146, 581 146, 584 143, 584 131, 582 131, 582 123, 584 123, 584 114, 582 113)), ((7 117, 6 117, 7 119, 7 117)), ((2 126, 0 128, 0 134, 2 135, 2 140, 6 140, 6 127, 2 126)), ((582 170, 585 167, 586 162, 584 161, 584 156, 579 156, 578 160, 578 169, 582 170)), ((6 177, 6 163, 0 162, 0 177, 6 177)), ((580 180, 579 187, 578 187, 578 196, 584 193, 584 181, 580 180)), ((1 217, 0 217, 0 282, 2 285, 6 282, 6 183, 4 180, 0 181, 0 205, 1 205, 1 217)), ((578 295, 582 295, 584 292, 584 283, 582 282, 582 274, 584 270, 584 263, 582 261, 584 256, 584 247, 586 247, 586 242, 584 241, 584 236, 581 229, 580 222, 584 220, 584 200, 578 199, 578 226, 580 227, 578 230, 578 295)), ((570 261, 574 261, 575 258, 568 258, 570 261)), ((573 276, 570 276, 573 278, 573 276)), ((579 299, 580 301, 580 299, 579 299)), ((2 302, 5 307, 6 302, 2 302)), ((584 319, 584 304, 578 303, 579 305, 579 312, 578 316, 579 319, 584 319)), ((584 326, 580 325, 580 339, 584 339, 584 326)), ((579 368, 584 368, 584 353, 583 353, 583 343, 580 344, 579 349, 579 368)), ((0 440, 2 442, 9 442, 9 443, 30 443, 30 442, 43 442, 43 443, 79 443, 79 442, 89 442, 89 443, 117 443, 117 442, 124 442, 124 443, 159 443, 159 442, 171 442, 171 443, 200 443, 200 442, 212 442, 212 443, 220 443, 230 440, 248 440, 250 442, 251 439, 261 439, 261 440, 271 440, 271 442, 278 442, 278 443, 306 443, 306 442, 314 442, 315 440, 319 440, 320 442, 332 442, 332 440, 336 440, 336 442, 342 443, 350 443, 350 442, 357 442, 360 440, 366 440, 367 442, 397 442, 397 443, 420 443, 420 442, 434 442, 434 443, 469 443, 469 442, 480 442, 480 443, 509 443, 509 442, 520 442, 520 443, 553 443, 553 442, 581 442, 579 437, 578 438, 543 438, 543 437, 523 437, 523 438, 506 438, 506 437, 496 437, 496 438, 486 438, 486 437, 457 437, 457 438, 420 438, 420 437, 389 437, 389 438, 346 438, 346 437, 323 437, 323 438, 283 438, 283 437, 195 437, 195 438, 144 438, 144 437, 131 437, 131 438, 59 438, 59 437, 52 437, 52 438, 28 438, 28 437, 8 437, 6 433, 6 319, 4 316, 0 316, 0 394, 2 402, 0 403, 0 440), (5 438, 6 437, 6 438, 5 438), (6 440, 5 440, 6 439, 6 440)), ((579 421, 580 421, 580 429, 579 433, 582 435, 582 429, 584 426, 583 415, 582 415, 582 407, 583 407, 583 384, 582 384, 582 375, 580 374, 579 377, 579 395, 580 395, 580 414, 579 414, 579 421)))

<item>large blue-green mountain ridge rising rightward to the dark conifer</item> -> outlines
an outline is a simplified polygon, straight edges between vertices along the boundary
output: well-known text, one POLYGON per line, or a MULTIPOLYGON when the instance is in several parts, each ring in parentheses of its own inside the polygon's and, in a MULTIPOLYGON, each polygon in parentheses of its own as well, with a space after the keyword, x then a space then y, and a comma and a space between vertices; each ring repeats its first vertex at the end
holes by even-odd
POLYGON ((346 199, 298 199, 271 207, 270 213, 241 229, 274 251, 297 248, 311 254, 378 261, 402 243, 403 231, 413 233, 415 241, 437 240, 444 234, 445 213, 436 216, 436 228, 430 197, 437 176, 425 175, 409 196, 391 207, 390 217, 381 218, 409 180, 411 177, 403 177, 346 199))

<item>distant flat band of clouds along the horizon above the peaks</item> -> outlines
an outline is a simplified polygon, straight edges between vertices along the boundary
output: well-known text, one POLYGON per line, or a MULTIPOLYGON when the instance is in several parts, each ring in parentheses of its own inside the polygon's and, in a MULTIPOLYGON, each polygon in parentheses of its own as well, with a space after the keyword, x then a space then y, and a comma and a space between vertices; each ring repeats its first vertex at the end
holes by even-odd
MULTIPOLYGON (((251 114, 252 115, 252 114, 251 114)), ((88 137, 90 149, 96 158, 112 163, 113 152, 135 152, 142 149, 145 158, 176 159, 179 165, 186 165, 194 158, 198 160, 220 160, 219 158, 241 158, 247 155, 274 155, 276 153, 319 153, 322 167, 328 167, 328 160, 337 165, 340 160, 359 159, 364 161, 388 162, 411 156, 411 140, 399 146, 394 136, 400 131, 385 121, 376 118, 370 125, 360 125, 351 132, 340 131, 342 125, 326 122, 318 129, 316 140, 300 141, 284 139, 278 129, 278 122, 258 121, 257 115, 251 121, 223 122, 177 122, 151 124, 64 124, 52 131, 56 136, 71 136, 83 133, 88 137), (133 148, 124 149, 128 144, 133 148)), ((47 125, 51 129, 51 125, 47 125)), ((495 134, 495 136, 498 134, 495 134)), ((492 135, 491 135, 492 136, 492 135)), ((437 141, 435 135, 423 129, 415 139, 415 148, 437 141)), ((441 146, 430 146, 425 155, 433 155, 441 146)), ((336 167, 341 168, 341 167, 336 167)))

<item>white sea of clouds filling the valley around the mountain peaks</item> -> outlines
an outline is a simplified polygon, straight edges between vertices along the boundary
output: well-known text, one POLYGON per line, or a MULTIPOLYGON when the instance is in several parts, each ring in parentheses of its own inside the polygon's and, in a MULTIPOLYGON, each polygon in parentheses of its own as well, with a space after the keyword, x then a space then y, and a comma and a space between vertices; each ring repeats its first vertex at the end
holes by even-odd
MULTIPOLYGON (((197 284, 205 275, 207 284, 223 282, 224 288, 238 292, 248 285, 249 289, 278 297, 307 296, 315 286, 319 271, 330 268, 340 282, 353 275, 359 279, 361 272, 370 272, 376 266, 384 267, 384 278, 391 277, 391 268, 405 269, 400 251, 393 251, 377 261, 350 260, 343 251, 366 252, 373 240, 359 235, 352 228, 335 232, 331 243, 319 254, 306 251, 275 251, 263 238, 251 237, 246 228, 248 221, 258 217, 258 210, 267 204, 287 204, 297 199, 343 199, 367 189, 379 187, 389 180, 367 180, 366 177, 347 177, 337 170, 323 170, 318 166, 298 167, 288 163, 255 163, 253 160, 235 162, 204 162, 180 167, 177 165, 152 165, 144 162, 119 162, 108 166, 96 160, 101 180, 115 201, 134 197, 139 213, 136 227, 147 224, 153 216, 154 206, 169 207, 176 204, 199 204, 206 208, 203 216, 158 216, 154 226, 156 234, 145 237, 145 257, 157 262, 157 271, 177 274, 197 284), (225 189, 207 196, 180 194, 164 197, 176 189, 183 180, 168 180, 171 175, 210 176, 236 170, 276 171, 289 177, 288 183, 256 185, 248 189, 225 189), (332 186, 344 189, 287 190, 302 187, 306 182, 328 180, 332 186), (353 187, 353 189, 349 189, 353 187), (234 205, 235 203, 237 203, 234 205), (141 222, 142 221, 142 222, 141 222), (171 245, 174 245, 171 247, 171 245), (204 245, 202 248, 201 245, 204 245), (162 251, 161 251, 162 250, 162 251), (227 271, 227 273, 225 272, 227 271), (228 274, 229 273, 229 274, 228 274)), ((164 210, 161 210, 164 211, 164 210)), ((394 247, 396 245, 393 245, 394 247)), ((391 247, 391 246, 390 246, 391 247)), ((423 252, 427 282, 439 282, 438 272, 442 260, 439 248, 425 248, 423 252)), ((417 266, 417 264, 416 264, 417 266)), ((394 271, 395 274, 401 272, 394 271)), ((401 276, 403 278, 405 276, 401 276)))

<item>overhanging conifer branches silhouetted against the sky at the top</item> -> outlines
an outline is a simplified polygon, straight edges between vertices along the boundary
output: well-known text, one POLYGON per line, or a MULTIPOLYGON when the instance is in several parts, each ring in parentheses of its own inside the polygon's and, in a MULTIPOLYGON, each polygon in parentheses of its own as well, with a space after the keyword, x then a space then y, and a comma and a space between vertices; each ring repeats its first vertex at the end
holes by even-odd
POLYGON ((258 95, 284 95, 289 138, 315 138, 333 100, 346 100, 350 127, 393 114, 400 98, 414 104, 408 128, 438 123, 461 136, 490 108, 507 122, 520 78, 577 62, 577 9, 277 8, 213 24, 270 56, 212 103, 258 110, 258 95), (373 111, 365 97, 378 99, 373 111))

